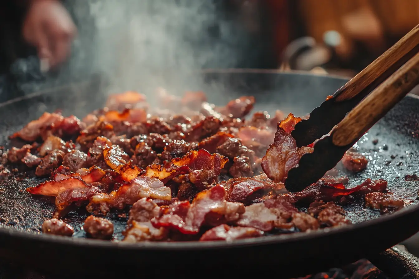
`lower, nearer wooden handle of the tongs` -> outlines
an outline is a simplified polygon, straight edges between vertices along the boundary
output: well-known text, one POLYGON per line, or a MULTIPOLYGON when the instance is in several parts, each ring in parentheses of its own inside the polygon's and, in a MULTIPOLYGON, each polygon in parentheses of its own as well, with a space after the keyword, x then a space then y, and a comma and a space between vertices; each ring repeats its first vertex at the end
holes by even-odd
POLYGON ((353 144, 417 84, 419 84, 419 53, 365 97, 331 131, 334 145, 353 144))

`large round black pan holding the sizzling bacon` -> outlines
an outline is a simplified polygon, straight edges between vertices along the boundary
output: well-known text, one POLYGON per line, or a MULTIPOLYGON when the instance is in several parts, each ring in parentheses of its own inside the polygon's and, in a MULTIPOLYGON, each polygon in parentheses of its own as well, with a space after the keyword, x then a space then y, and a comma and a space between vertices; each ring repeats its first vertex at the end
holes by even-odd
MULTIPOLYGON (((209 101, 222 105, 240 95, 254 95, 256 110, 283 109, 304 115, 346 80, 336 77, 272 71, 207 71, 202 86, 209 101)), ((98 81, 62 87, 0 105, 0 136, 7 136, 44 111, 63 109, 65 115, 83 117, 105 102, 98 81)), ((186 82, 187 84, 187 82, 186 82)), ((165 84, 163 84, 164 86, 165 84)), ((195 90, 197 88, 185 89, 195 90)), ((272 235, 226 243, 217 242, 144 242, 125 245, 84 238, 81 229, 86 215, 70 212, 67 222, 75 227, 75 237, 43 235, 40 228, 50 218, 53 202, 33 197, 24 191, 39 181, 0 185, 0 258, 4 263, 29 266, 41 272, 65 275, 123 276, 124 272, 147 276, 220 276, 226 272, 272 274, 290 278, 341 266, 376 255, 419 231, 419 182, 406 181, 419 166, 419 99, 404 98, 380 120, 358 144, 370 155, 368 169, 348 174, 352 184, 366 178, 383 178, 395 195, 411 200, 411 205, 388 215, 366 210, 362 204, 346 206, 354 225, 323 229, 313 233, 272 235), (377 145, 372 141, 378 140, 377 145), (393 156, 392 156, 393 155, 393 156), (394 158, 394 159, 392 159, 394 158)), ((114 218, 117 237, 125 220, 114 218)))

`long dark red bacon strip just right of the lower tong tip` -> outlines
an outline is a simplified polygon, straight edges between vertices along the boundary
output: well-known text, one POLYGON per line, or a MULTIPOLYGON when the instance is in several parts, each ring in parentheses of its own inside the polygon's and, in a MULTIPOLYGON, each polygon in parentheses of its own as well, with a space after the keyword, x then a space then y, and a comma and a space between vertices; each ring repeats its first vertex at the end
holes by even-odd
POLYGON ((387 181, 384 179, 371 180, 366 179, 362 184, 350 189, 346 189, 342 182, 325 182, 319 180, 310 185, 302 192, 290 194, 295 200, 303 204, 308 204, 314 201, 336 202, 340 201, 342 197, 352 195, 356 198, 366 195, 370 192, 384 192, 387 187, 387 181))

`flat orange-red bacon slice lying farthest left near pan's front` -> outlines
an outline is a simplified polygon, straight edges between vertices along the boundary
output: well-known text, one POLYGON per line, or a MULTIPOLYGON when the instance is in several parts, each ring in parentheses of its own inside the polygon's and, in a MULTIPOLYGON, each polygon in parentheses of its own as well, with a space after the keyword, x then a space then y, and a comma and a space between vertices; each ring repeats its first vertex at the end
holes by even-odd
POLYGON ((80 177, 70 177, 62 179, 59 181, 48 180, 42 182, 36 187, 26 188, 26 191, 33 195, 43 195, 43 196, 57 196, 59 192, 68 189, 79 189, 87 188, 89 185, 83 181, 80 177))

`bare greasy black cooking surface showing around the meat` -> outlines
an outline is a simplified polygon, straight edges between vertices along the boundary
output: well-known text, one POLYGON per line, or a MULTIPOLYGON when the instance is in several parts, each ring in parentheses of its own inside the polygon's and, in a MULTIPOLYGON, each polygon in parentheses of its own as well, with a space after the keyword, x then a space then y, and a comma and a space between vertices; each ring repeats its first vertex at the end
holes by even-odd
MULTIPOLYGON (((406 175, 414 174, 419 165, 419 153, 417 145, 418 113, 416 107, 419 99, 406 97, 401 104, 391 110, 388 115, 380 120, 355 146, 359 152, 364 153, 369 159, 367 170, 358 174, 351 174, 341 170, 341 174, 349 177, 349 187, 362 183, 365 179, 384 178, 388 181, 388 189, 395 196, 402 197, 406 205, 417 203, 416 197, 419 189, 419 182, 404 179, 406 175), (400 109, 403 107, 403 109, 400 109), (374 144, 373 142, 378 141, 374 144)), ((272 107, 272 104, 259 103, 255 110, 264 110, 272 107)), ((51 106, 42 103, 34 103, 30 114, 37 113, 31 110, 52 112, 59 105, 51 106)), ((281 108, 279 106, 279 108, 281 108)), ((72 113, 71 110, 64 110, 64 114, 72 113)), ((76 115, 80 115, 76 112, 76 115)), ((83 114, 84 115, 84 114, 83 114)), ((83 116, 80 115, 80 116, 83 116)), ((9 145, 7 136, 20 129, 23 123, 29 119, 21 118, 19 124, 12 124, 2 134, 2 144, 9 145)), ((7 119, 5 119, 7 123, 7 119)), ((16 144, 16 142, 14 142, 16 144)), ((29 175, 31 177, 31 175, 29 175)), ((26 187, 36 186, 40 179, 29 178, 21 181, 11 180, 0 184, 0 227, 15 228, 30 233, 41 233, 41 225, 45 219, 51 218, 54 210, 54 199, 48 197, 32 196, 25 191, 26 187)), ((347 217, 353 223, 370 220, 380 217, 379 212, 365 209, 362 201, 357 204, 344 206, 347 217)), ((70 212, 65 221, 75 228, 74 237, 85 237, 83 221, 88 216, 84 207, 80 210, 70 212)), ((115 225, 115 238, 122 238, 127 218, 117 213, 110 214, 110 219, 115 225)))

